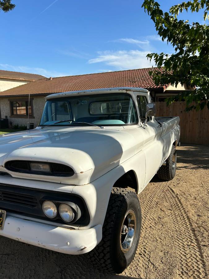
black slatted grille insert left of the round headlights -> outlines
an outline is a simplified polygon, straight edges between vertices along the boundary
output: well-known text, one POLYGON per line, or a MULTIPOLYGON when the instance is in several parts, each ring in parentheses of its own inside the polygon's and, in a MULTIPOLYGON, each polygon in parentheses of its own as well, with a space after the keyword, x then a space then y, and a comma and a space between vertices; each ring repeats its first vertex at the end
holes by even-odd
POLYGON ((0 201, 11 202, 23 206, 36 207, 37 198, 31 195, 0 191, 0 201))

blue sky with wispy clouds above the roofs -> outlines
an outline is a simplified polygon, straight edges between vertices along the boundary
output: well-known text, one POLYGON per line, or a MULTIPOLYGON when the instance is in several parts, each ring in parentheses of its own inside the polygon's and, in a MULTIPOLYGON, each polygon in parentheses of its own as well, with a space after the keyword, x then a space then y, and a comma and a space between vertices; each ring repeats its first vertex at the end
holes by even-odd
MULTIPOLYGON (((46 77, 146 68, 150 52, 172 53, 141 0, 13 0, 0 12, 0 69, 46 77)), ((179 1, 158 1, 163 11, 179 1)), ((180 17, 203 22, 203 11, 180 17)))

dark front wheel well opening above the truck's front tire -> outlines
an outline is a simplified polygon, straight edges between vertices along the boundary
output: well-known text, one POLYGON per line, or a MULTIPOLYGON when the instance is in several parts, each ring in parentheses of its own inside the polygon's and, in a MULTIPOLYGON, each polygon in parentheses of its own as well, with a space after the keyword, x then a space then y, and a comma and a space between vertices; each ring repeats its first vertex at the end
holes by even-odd
POLYGON ((122 175, 117 181, 115 181, 115 184, 113 187, 120 187, 120 188, 132 188, 137 192, 137 178, 136 174, 133 170, 129 170, 124 175, 122 175))

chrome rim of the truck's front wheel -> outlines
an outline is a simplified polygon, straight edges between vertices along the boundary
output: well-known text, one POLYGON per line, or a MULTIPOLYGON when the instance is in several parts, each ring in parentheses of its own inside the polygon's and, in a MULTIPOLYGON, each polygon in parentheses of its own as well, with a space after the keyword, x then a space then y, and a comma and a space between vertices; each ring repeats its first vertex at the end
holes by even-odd
POLYGON ((136 215, 132 209, 126 213, 120 230, 120 248, 128 252, 131 248, 136 230, 136 215))

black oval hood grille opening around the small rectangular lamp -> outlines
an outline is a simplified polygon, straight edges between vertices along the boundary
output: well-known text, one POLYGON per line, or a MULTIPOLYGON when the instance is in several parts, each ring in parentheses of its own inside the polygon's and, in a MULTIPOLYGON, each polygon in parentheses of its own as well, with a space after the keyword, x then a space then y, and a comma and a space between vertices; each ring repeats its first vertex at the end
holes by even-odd
POLYGON ((50 162, 8 161, 5 164, 5 168, 7 170, 11 170, 11 171, 15 171, 15 172, 31 173, 31 174, 38 174, 38 175, 51 175, 51 176, 72 176, 72 175, 74 175, 74 171, 71 167, 63 165, 63 164, 56 164, 56 163, 50 163, 50 162), (31 170, 30 163, 49 164, 50 172, 31 170))

